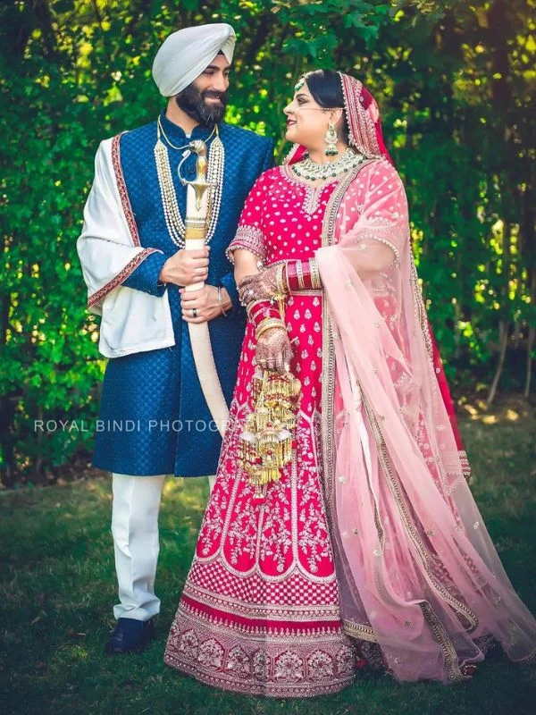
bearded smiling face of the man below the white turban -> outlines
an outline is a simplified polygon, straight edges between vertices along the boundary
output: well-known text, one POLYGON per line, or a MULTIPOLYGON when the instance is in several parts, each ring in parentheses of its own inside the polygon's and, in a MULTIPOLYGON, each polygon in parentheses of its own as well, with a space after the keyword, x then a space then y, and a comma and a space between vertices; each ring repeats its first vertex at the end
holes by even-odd
POLYGON ((222 121, 227 105, 230 64, 225 55, 214 60, 187 88, 175 97, 183 112, 205 127, 222 121))

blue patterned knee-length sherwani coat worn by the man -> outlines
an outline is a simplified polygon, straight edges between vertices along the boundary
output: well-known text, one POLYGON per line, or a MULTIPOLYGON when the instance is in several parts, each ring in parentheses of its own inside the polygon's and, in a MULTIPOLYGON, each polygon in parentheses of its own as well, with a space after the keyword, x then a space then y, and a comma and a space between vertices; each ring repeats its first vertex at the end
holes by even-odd
MULTIPOLYGON (((161 122, 172 144, 182 147, 188 143, 184 130, 164 114, 161 114, 161 122)), ((209 134, 209 130, 196 127, 191 139, 207 139, 209 134)), ((255 179, 272 165, 273 143, 272 139, 260 137, 253 131, 225 123, 220 125, 220 138, 225 148, 222 205, 210 242, 206 282, 224 286, 233 304, 229 317, 221 315, 208 324, 214 361, 229 405, 246 313, 239 305, 225 248, 234 237, 240 211, 255 179)), ((141 245, 163 251, 163 254, 150 254, 123 285, 152 295, 168 291, 175 345, 110 358, 103 383, 93 464, 128 475, 211 475, 216 471, 222 439, 212 422, 197 378, 188 324, 181 318, 179 287, 157 285, 163 264, 179 248, 172 242, 164 220, 155 142, 156 122, 121 136, 121 167, 141 245)), ((186 187, 177 174, 183 152, 171 147, 168 152, 180 212, 185 218, 186 187)), ((188 180, 195 178, 194 154, 182 164, 181 173, 188 180)))

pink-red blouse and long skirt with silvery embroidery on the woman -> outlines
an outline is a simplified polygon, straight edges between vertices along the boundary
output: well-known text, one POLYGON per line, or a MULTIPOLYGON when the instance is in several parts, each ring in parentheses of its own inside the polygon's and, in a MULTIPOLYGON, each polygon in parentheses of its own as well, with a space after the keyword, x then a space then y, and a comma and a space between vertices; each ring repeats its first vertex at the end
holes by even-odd
MULTIPOLYGON (((314 256, 338 184, 310 189, 288 171, 260 177, 232 244, 254 250, 266 265, 314 256)), ((295 458, 270 484, 266 501, 254 503, 237 463, 239 434, 253 408, 255 329, 248 324, 216 483, 165 662, 225 689, 303 697, 347 686, 355 657, 341 627, 321 488, 321 291, 291 297, 285 321, 297 338, 290 370, 302 383, 295 458)))

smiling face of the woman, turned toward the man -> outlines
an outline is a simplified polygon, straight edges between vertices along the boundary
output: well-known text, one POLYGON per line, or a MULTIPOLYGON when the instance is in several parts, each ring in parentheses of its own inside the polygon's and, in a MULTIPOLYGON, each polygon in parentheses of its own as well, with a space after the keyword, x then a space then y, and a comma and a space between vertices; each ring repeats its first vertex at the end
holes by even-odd
POLYGON ((283 112, 287 116, 285 138, 306 148, 322 145, 331 119, 331 110, 314 101, 306 82, 297 88, 292 102, 283 112))

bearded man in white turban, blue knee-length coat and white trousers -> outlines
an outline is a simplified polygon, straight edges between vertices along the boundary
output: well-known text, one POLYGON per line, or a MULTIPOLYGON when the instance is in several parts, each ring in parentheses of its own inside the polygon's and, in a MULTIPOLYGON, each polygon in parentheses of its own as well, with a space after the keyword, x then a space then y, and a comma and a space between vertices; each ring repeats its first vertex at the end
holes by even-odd
POLYGON ((208 322, 230 403, 246 315, 225 257, 247 193, 272 165, 272 140, 222 122, 234 30, 210 24, 172 33, 153 77, 167 106, 154 122, 105 139, 77 243, 88 308, 102 315, 109 357, 93 464, 113 473, 112 533, 119 603, 108 653, 141 651, 160 610, 155 595, 158 511, 165 475, 214 474, 222 445, 188 332, 208 322), (186 186, 203 139, 216 177, 205 248, 184 249, 186 186), (180 166, 179 166, 180 164, 180 166), (180 171, 180 173, 179 173, 180 171), (210 241, 210 243, 209 243, 210 241), (205 282, 201 290, 184 287, 205 282))

